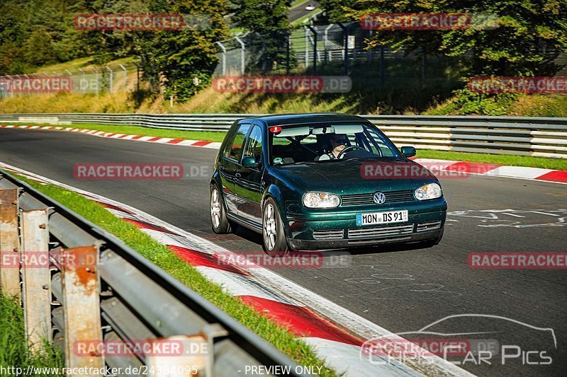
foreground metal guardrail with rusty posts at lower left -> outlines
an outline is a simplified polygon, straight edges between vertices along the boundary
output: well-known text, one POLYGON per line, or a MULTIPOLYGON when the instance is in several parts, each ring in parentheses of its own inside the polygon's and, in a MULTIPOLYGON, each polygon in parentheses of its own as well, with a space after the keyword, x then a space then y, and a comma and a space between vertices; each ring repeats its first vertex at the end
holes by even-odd
POLYGON ((105 364, 123 376, 240 376, 259 366, 296 375, 271 344, 3 170, 0 219, 0 287, 21 297, 30 347, 55 342, 67 368, 91 368, 74 376, 103 376, 105 364))

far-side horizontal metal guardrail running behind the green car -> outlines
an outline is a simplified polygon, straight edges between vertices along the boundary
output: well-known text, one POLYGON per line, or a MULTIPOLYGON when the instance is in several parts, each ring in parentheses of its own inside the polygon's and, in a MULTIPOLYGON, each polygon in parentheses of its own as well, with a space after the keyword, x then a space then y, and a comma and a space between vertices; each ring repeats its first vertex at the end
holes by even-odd
MULTIPOLYGON (((225 131, 254 114, 8 114, 5 124, 130 124, 162 129, 225 131)), ((474 153, 567 158, 567 118, 361 115, 398 146, 474 153)))

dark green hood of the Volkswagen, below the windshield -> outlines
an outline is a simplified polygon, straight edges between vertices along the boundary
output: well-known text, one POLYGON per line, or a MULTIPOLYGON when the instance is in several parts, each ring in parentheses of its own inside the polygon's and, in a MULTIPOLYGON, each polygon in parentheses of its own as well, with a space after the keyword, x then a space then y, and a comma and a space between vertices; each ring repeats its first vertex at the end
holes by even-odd
POLYGON ((279 166, 278 170, 305 191, 325 191, 337 195, 415 190, 425 183, 437 182, 437 178, 429 170, 410 160, 303 163, 279 166), (410 171, 408 169, 412 166, 420 168, 420 173, 403 173, 410 171), (396 171, 398 173, 394 173, 396 171))

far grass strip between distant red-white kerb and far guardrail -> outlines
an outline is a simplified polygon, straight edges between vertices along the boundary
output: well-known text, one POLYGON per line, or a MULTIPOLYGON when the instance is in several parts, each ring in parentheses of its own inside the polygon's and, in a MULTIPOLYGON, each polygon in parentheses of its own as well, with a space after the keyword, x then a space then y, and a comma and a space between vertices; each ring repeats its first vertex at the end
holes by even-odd
MULTIPOLYGON (((38 124, 50 125, 50 124, 38 124)), ((73 124, 74 127, 84 129, 98 129, 104 132, 119 132, 121 134, 135 134, 153 137, 172 137, 176 139, 191 139, 222 142, 225 132, 213 131, 179 131, 176 129, 153 129, 137 126, 112 126, 106 124, 73 124)), ((70 127, 70 126, 68 126, 70 127)), ((544 158, 532 156, 510 156, 486 153, 463 153, 449 151, 431 151, 422 149, 417 151, 418 158, 439 158, 440 160, 457 160, 476 163, 498 163, 508 166, 527 166, 531 168, 545 168, 554 170, 567 170, 567 160, 561 158, 544 158)))

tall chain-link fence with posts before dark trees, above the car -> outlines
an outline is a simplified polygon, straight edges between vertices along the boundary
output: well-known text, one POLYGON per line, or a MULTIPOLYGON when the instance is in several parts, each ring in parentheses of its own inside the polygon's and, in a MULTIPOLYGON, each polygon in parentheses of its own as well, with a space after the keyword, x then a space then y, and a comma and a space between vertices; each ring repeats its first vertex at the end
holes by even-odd
MULTIPOLYGON (((396 51, 389 46, 368 49, 367 40, 372 33, 373 30, 364 30, 360 23, 354 22, 303 24, 275 38, 247 33, 216 42, 220 63, 215 75, 309 72, 348 75, 353 81, 373 76, 375 82, 383 85, 388 81, 458 81, 472 64, 472 53, 448 57, 424 54, 420 50, 396 51), (275 53, 273 47, 270 51, 274 40, 275 53)), ((567 76, 567 52, 556 54, 549 48, 543 52, 554 60, 554 75, 567 76)))

